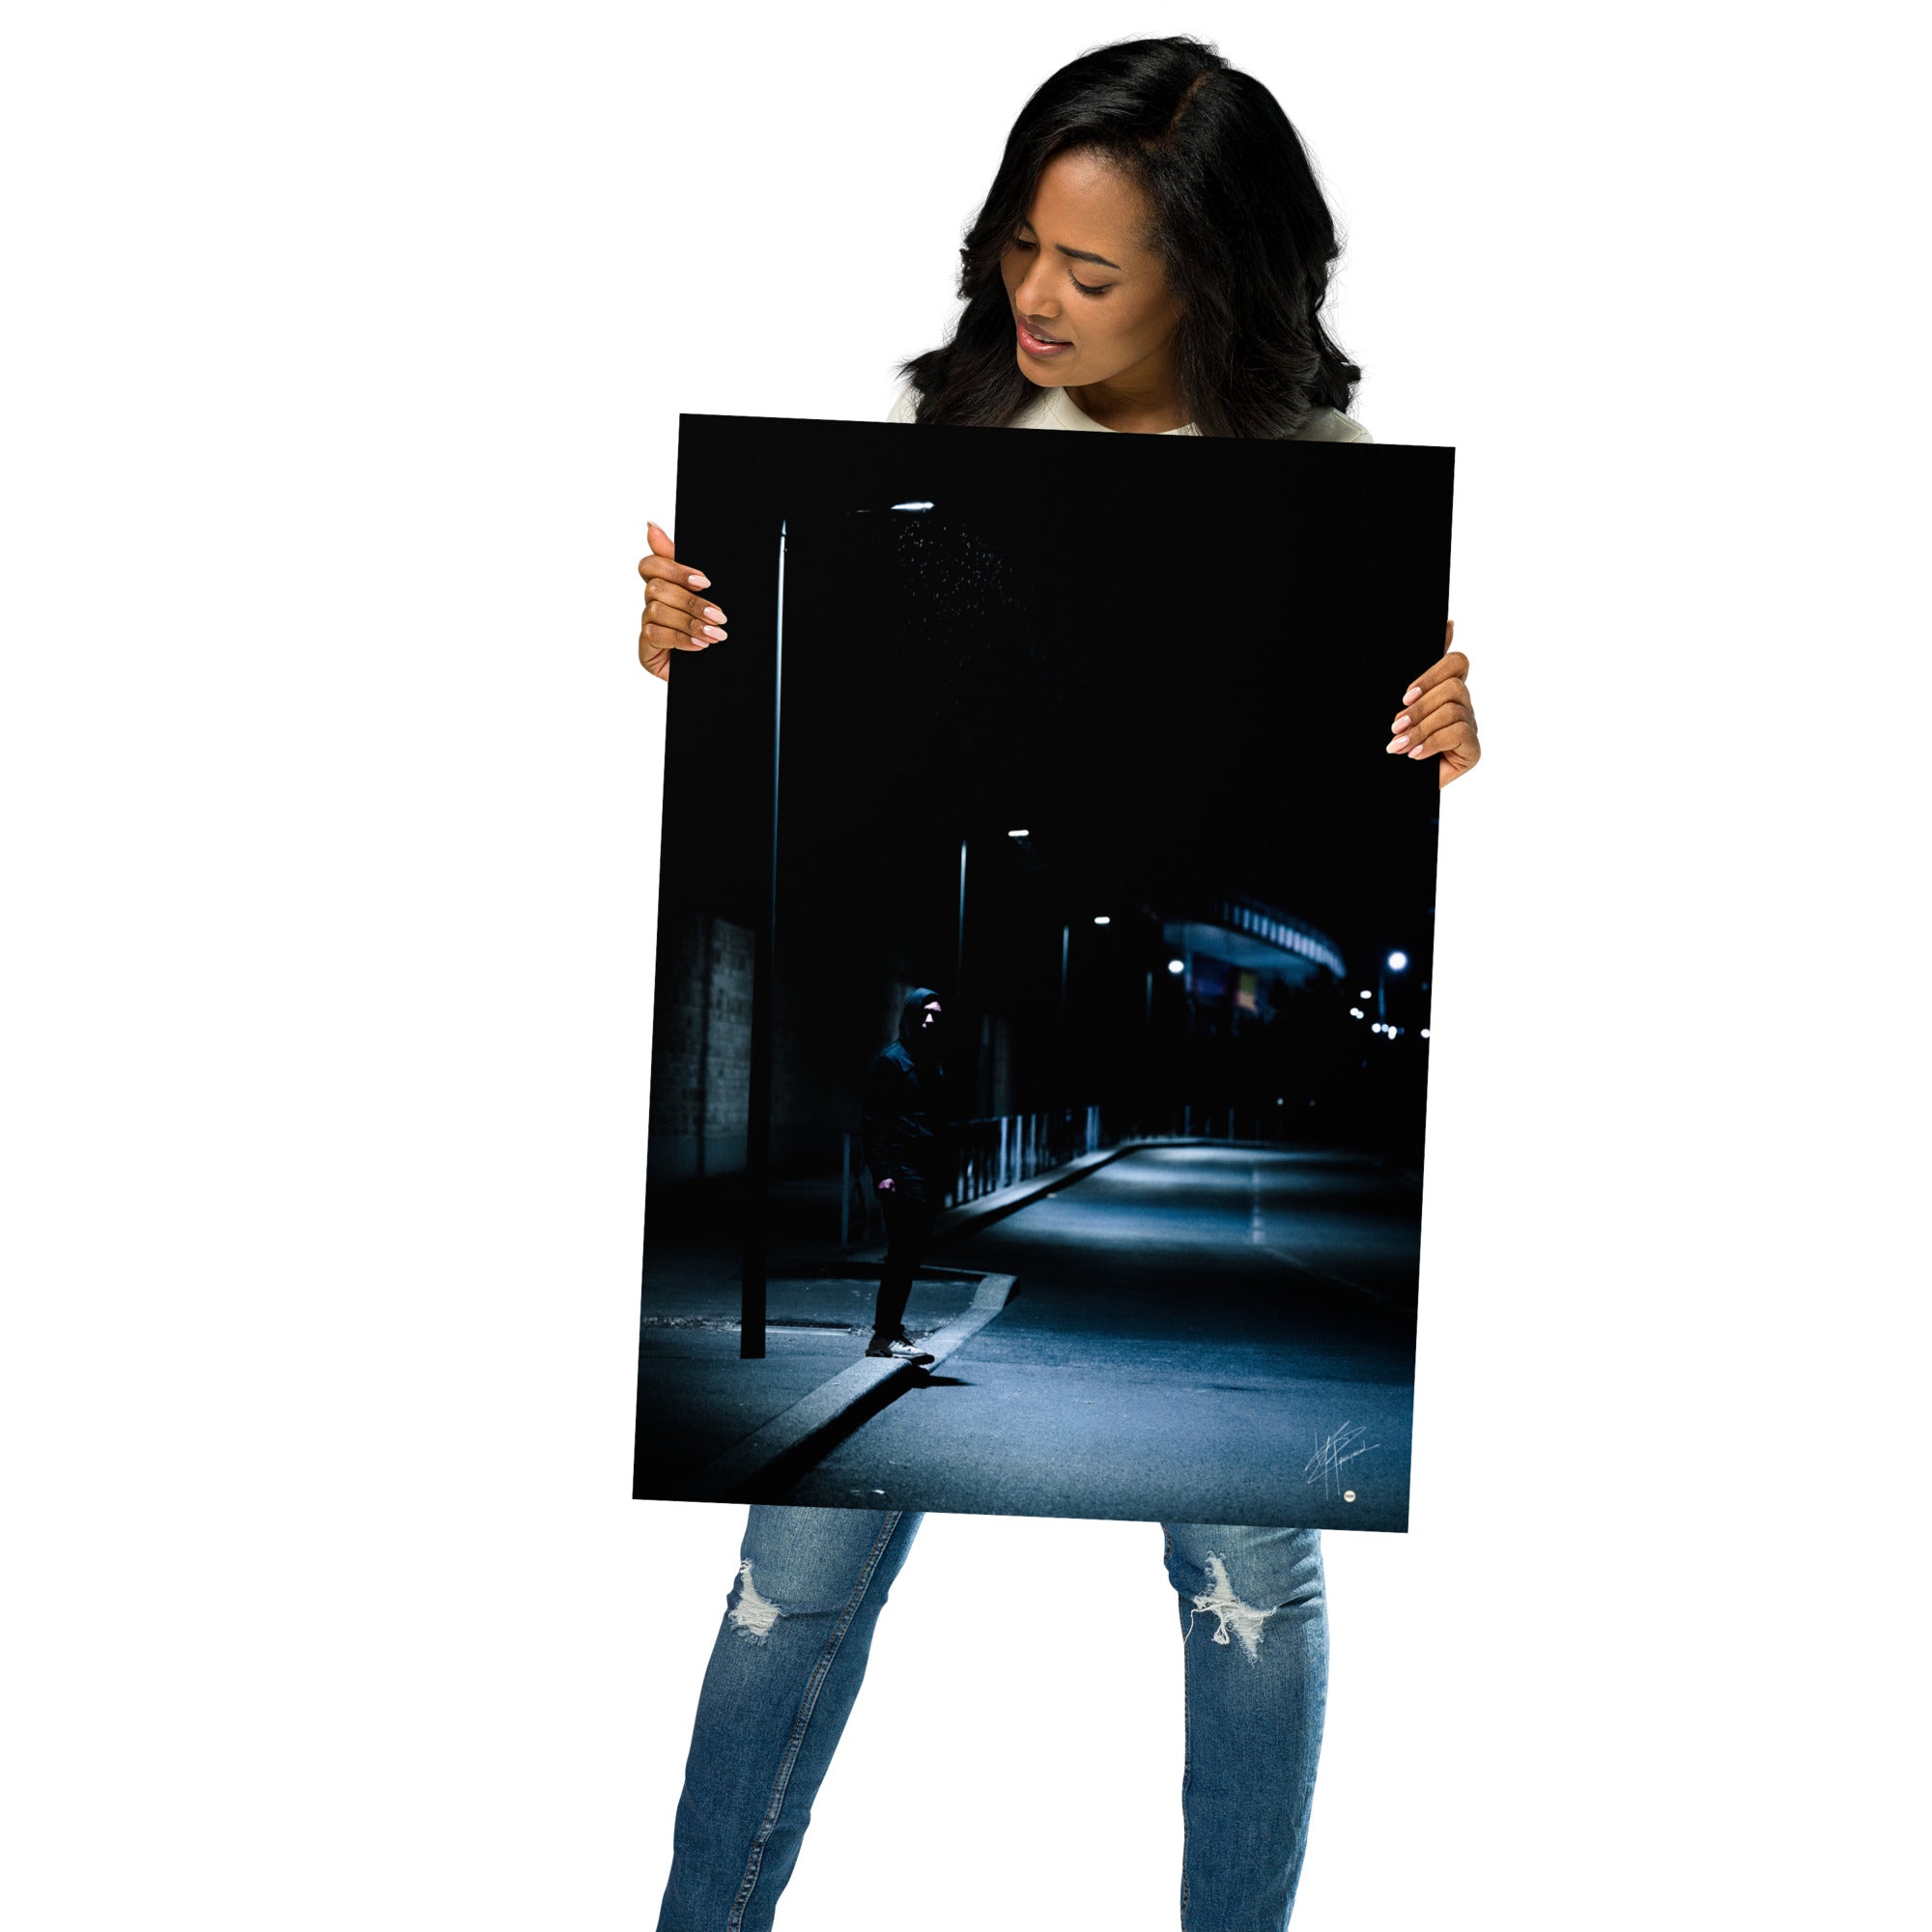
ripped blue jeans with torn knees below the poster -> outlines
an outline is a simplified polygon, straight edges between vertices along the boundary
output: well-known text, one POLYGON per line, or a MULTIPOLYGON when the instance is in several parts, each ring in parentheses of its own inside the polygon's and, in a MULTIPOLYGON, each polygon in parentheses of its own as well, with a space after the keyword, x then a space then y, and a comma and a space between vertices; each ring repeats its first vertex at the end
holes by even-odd
MULTIPOLYGON (((657 1932, 765 1932, 920 1528, 910 1511, 752 1509, 678 1801, 657 1932)), ((1184 1932, 1281 1932, 1321 1754, 1316 1530, 1167 1522, 1186 1677, 1184 1932)))

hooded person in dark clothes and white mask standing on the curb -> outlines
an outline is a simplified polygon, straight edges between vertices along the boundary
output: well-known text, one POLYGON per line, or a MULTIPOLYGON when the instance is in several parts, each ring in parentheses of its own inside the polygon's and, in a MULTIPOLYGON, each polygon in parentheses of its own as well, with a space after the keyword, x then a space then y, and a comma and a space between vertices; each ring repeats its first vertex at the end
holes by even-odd
POLYGON ((866 1354, 931 1362, 906 1335, 906 1300, 933 1221, 952 1186, 958 1142, 943 1061, 945 1005, 929 985, 914 987, 898 1014, 898 1037, 866 1068, 864 1142, 885 1209, 885 1269, 866 1354))

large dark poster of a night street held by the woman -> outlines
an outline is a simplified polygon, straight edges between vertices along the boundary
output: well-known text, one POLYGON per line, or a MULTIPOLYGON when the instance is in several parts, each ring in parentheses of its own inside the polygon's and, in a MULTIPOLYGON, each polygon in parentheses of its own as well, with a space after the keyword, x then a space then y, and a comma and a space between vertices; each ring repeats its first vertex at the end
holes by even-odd
POLYGON ((1406 1528, 1451 477, 682 419, 638 1495, 1406 1528))

